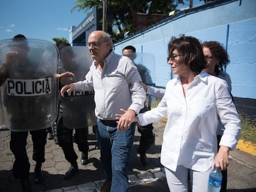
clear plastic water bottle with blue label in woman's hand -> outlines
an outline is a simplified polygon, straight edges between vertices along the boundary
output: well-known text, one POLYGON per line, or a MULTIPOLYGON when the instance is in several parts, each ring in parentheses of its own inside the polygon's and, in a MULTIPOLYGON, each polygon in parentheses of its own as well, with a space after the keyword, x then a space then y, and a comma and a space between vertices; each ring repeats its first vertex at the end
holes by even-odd
POLYGON ((208 192, 220 192, 221 181, 222 173, 220 170, 216 169, 216 165, 214 165, 214 169, 211 170, 209 175, 208 192))

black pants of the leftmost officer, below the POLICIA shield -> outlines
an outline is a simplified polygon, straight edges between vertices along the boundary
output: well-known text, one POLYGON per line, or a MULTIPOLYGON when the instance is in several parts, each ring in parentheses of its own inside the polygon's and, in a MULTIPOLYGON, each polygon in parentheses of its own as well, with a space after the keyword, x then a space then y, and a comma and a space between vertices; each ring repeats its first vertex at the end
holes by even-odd
MULTIPOLYGON (((36 163, 45 162, 46 129, 30 131, 33 141, 33 160, 36 163)), ((10 149, 14 154, 15 161, 12 168, 14 178, 28 177, 30 162, 28 161, 26 145, 28 131, 11 131, 10 149)))

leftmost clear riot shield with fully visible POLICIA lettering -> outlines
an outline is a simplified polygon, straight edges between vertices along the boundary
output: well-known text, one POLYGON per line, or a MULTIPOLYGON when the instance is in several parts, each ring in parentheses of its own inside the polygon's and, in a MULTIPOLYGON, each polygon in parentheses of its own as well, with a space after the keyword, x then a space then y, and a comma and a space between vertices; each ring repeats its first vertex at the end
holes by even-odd
POLYGON ((48 41, 0 41, 3 123, 11 131, 51 127, 58 112, 58 48, 48 41))

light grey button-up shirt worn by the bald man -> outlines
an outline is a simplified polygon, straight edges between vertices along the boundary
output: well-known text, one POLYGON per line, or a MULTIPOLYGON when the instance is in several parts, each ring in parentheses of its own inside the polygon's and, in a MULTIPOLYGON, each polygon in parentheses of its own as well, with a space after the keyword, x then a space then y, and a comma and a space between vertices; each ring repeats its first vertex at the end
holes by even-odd
POLYGON ((144 107, 145 90, 137 67, 127 57, 111 51, 104 60, 101 73, 93 62, 85 80, 74 83, 75 90, 95 91, 95 115, 102 120, 116 120, 120 109, 132 109, 139 114, 144 107))

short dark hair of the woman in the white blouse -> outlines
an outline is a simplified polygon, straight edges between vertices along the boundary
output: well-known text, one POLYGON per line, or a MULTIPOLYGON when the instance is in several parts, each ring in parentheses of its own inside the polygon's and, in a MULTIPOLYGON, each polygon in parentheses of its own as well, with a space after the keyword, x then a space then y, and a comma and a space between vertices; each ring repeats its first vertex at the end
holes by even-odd
POLYGON ((190 64, 190 69, 193 72, 200 73, 205 69, 205 57, 203 56, 202 45, 197 38, 193 36, 172 38, 168 44, 169 57, 171 57, 175 49, 182 55, 179 61, 190 64))

